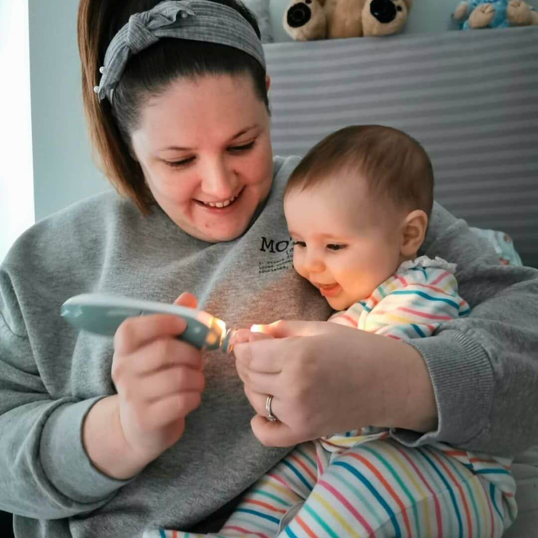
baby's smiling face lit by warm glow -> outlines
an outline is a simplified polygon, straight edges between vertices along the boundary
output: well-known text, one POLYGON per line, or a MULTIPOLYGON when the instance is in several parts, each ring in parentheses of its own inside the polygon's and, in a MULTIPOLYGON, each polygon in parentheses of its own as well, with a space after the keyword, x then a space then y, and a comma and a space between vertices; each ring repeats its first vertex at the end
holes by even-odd
POLYGON ((369 297, 401 262, 402 214, 374 203, 364 181, 331 179, 292 190, 284 213, 295 245, 295 270, 335 310, 369 297))

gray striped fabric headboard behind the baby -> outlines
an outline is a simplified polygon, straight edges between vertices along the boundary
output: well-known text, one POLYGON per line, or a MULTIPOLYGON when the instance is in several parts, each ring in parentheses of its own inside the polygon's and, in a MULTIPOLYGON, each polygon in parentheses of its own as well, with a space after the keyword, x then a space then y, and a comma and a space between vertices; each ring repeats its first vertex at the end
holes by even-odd
POLYGON ((435 199, 538 267, 538 27, 264 48, 275 153, 345 125, 402 129, 431 157, 435 199))

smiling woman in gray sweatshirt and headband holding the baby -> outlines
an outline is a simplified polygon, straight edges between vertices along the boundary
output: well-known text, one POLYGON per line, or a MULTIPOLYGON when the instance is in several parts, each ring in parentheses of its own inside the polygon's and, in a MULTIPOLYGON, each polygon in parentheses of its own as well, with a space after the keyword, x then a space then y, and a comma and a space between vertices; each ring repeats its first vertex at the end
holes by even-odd
POLYGON ((16 535, 218 529, 291 445, 361 425, 412 446, 537 443, 537 272, 498 266, 440 206, 423 253, 459 264, 473 312, 412 344, 284 321, 235 358, 202 357, 174 317, 132 318, 114 342, 61 320, 94 291, 188 291, 231 327, 329 315, 291 266, 281 191, 297 160, 272 158, 256 23, 233 0, 158 4, 81 0, 84 107, 123 196, 36 224, 2 266, 0 508, 16 535))

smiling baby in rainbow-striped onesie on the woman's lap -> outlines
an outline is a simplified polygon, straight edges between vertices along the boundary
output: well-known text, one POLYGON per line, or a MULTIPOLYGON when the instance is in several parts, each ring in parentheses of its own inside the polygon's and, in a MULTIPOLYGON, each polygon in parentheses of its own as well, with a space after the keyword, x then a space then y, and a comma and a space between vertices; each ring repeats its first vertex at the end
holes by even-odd
MULTIPOLYGON (((336 310, 329 321, 409 340, 469 314, 455 265, 417 257, 433 183, 422 146, 379 125, 332 133, 300 161, 284 192, 293 267, 336 310)), ((501 536, 501 514, 516 515, 509 463, 407 448, 383 427, 347 431, 296 447, 218 536, 501 536)))

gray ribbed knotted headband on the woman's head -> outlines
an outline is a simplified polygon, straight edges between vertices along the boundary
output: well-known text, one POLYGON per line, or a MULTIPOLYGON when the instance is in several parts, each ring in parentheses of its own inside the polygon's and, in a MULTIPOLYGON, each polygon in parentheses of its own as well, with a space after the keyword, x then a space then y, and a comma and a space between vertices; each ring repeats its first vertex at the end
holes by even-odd
POLYGON ((164 37, 229 45, 250 54, 265 68, 261 41, 235 9, 208 0, 166 0, 149 11, 131 15, 110 41, 100 68, 101 82, 94 88, 99 101, 107 97, 112 103, 130 56, 164 37))

